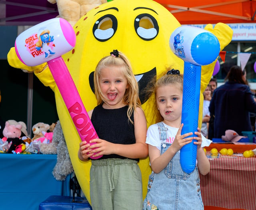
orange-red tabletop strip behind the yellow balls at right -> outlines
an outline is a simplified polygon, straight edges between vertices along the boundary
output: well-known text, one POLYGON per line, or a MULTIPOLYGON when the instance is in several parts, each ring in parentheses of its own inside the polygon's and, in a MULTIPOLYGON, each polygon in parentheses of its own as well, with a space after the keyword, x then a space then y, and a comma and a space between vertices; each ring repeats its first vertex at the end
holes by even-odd
POLYGON ((214 143, 212 142, 210 146, 205 147, 207 151, 210 151, 212 148, 216 148, 220 151, 222 148, 232 149, 236 153, 243 153, 245 150, 254 150, 256 148, 255 143, 214 143))

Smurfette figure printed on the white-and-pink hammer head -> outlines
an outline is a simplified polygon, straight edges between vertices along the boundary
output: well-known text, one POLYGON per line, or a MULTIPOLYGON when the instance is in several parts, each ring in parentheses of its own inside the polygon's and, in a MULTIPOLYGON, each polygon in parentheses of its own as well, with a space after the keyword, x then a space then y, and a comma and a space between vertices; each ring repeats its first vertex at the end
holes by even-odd
POLYGON ((50 42, 54 41, 53 36, 50 36, 50 31, 47 29, 39 30, 39 33, 37 35, 38 42, 36 42, 36 50, 40 51, 41 49, 45 53, 45 57, 48 57, 48 53, 50 52, 51 55, 55 54, 55 52, 52 52, 52 46, 50 46, 50 42))

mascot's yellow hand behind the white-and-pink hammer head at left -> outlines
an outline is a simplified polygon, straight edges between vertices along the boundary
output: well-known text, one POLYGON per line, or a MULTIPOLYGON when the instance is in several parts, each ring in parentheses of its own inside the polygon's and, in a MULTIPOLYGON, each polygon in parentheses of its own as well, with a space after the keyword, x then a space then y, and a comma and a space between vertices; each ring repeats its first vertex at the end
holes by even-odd
POLYGON ((38 66, 26 66, 24 63, 22 63, 20 61, 20 59, 18 58, 16 52, 15 52, 15 48, 12 47, 10 49, 10 51, 7 54, 7 60, 10 66, 14 67, 14 68, 21 68, 23 71, 27 71, 27 72, 35 72, 35 73, 40 73, 44 70, 44 68, 46 68, 47 63, 43 63, 41 65, 38 66))

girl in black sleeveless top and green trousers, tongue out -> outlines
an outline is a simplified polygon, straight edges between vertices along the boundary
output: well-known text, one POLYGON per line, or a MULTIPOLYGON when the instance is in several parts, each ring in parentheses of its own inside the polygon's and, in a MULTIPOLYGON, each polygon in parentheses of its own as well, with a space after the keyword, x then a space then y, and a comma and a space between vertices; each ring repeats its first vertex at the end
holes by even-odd
POLYGON ((126 56, 114 50, 102 58, 94 72, 94 86, 98 106, 88 115, 99 139, 91 140, 96 143, 92 146, 81 142, 78 151, 82 161, 103 155, 92 160, 90 169, 92 209, 141 210, 142 177, 137 163, 148 156, 147 124, 126 56))

